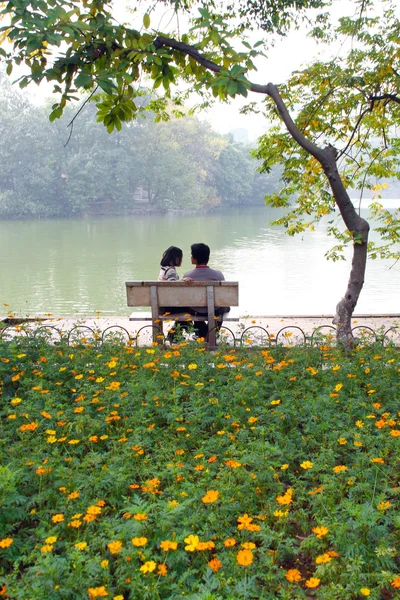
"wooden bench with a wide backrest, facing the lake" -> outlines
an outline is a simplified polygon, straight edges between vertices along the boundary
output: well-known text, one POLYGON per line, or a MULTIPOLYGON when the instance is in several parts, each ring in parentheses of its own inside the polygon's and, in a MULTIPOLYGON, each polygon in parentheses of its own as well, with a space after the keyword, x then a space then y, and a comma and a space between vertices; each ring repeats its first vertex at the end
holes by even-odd
MULTIPOLYGON (((216 346, 215 307, 239 306, 239 283, 237 281, 126 281, 128 306, 151 307, 150 313, 134 312, 130 321, 152 321, 153 339, 157 340, 157 330, 163 322, 171 320, 208 321, 208 343, 216 346), (188 313, 160 314, 160 306, 204 306, 206 316, 188 313)), ((226 313, 224 321, 238 321, 238 316, 226 313)))

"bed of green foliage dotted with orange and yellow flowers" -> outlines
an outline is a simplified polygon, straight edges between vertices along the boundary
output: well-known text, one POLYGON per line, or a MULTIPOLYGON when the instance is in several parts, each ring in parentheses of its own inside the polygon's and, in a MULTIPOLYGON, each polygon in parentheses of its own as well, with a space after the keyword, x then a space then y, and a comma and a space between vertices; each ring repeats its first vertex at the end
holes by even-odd
POLYGON ((399 598, 397 349, 0 350, 0 597, 399 598))

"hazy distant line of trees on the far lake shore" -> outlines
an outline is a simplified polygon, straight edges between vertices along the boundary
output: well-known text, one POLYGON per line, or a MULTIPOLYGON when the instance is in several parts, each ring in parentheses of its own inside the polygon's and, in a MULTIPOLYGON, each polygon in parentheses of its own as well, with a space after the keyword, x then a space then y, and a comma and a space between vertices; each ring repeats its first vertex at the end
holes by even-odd
POLYGON ((278 185, 277 171, 257 172, 249 147, 195 117, 149 114, 109 135, 93 111, 85 106, 66 144, 73 110, 50 123, 48 107, 0 75, 0 218, 262 204, 278 185))

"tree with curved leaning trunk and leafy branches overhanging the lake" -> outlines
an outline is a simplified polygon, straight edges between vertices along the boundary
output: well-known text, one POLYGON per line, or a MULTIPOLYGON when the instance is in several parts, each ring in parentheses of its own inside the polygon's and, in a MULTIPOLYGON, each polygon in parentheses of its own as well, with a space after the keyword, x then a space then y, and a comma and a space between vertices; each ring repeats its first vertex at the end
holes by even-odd
MULTIPOLYGON (((7 2, 3 33, 11 49, 3 49, 2 55, 8 72, 24 64, 28 74, 22 75, 21 86, 44 79, 55 83, 60 100, 53 105, 52 120, 79 90, 102 90, 98 120, 110 132, 147 109, 159 119, 168 118, 168 102, 179 114, 192 92, 201 96, 203 105, 213 98, 260 94, 262 110, 276 125, 261 141, 258 156, 265 170, 278 162, 285 169, 283 193, 269 202, 288 205, 298 196, 294 210, 282 221, 290 233, 313 227, 336 204, 348 233, 335 226, 332 233, 341 236, 340 245, 346 239, 353 243, 350 280, 337 307, 339 337, 348 340, 364 281, 369 224, 355 210, 347 190, 353 187, 361 193, 376 185, 374 179, 400 173, 396 3, 354 0, 343 5, 348 14, 336 22, 315 12, 333 2, 232 0, 229 9, 208 0, 198 9, 185 0, 172 4, 177 17, 183 10, 187 18, 177 18, 175 27, 165 31, 145 4, 135 4, 129 25, 124 25, 106 0, 7 2), (284 85, 252 82, 250 74, 272 32, 284 33, 300 17, 309 19, 310 34, 321 44, 340 42, 337 56, 315 61, 284 85), (246 39, 252 26, 261 26, 266 37, 255 43, 246 39), (143 85, 158 90, 146 107, 140 102, 143 85)), ((379 203, 374 210, 383 245, 373 249, 373 255, 398 258, 398 214, 388 214, 379 203)))

